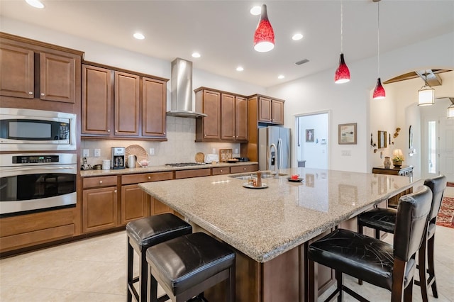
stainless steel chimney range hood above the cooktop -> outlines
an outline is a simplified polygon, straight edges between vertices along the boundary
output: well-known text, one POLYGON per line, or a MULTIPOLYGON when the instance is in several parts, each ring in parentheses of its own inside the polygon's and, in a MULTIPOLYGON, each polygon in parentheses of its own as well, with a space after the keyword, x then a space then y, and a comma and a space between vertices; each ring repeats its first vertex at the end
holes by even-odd
POLYGON ((177 57, 172 61, 170 111, 167 116, 201 118, 204 113, 195 112, 192 106, 192 62, 177 57))

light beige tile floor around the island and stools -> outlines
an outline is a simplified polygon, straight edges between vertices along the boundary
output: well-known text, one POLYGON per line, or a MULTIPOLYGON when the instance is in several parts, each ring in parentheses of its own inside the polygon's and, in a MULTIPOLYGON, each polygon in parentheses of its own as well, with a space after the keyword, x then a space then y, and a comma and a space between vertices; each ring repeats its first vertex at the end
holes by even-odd
MULTIPOLYGON (((446 196, 454 196, 454 188, 447 188, 446 196)), ((392 236, 387 236, 388 240, 392 236)), ((429 296, 429 301, 454 301, 453 251, 454 229, 438 227, 438 299, 429 296)), ((348 276, 345 280, 370 301, 390 300, 387 290, 370 284, 358 286, 348 276)), ((344 300, 355 301, 348 294, 344 300)), ((126 301, 126 233, 111 233, 0 259, 0 301, 126 301)), ((414 287, 414 301, 421 301, 418 286, 414 287)))

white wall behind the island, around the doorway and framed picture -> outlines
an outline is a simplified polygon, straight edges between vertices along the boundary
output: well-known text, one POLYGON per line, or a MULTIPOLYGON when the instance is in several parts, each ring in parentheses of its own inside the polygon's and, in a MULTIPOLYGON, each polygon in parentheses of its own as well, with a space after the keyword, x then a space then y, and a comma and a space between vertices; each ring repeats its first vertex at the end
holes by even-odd
MULTIPOLYGON (((454 32, 382 53, 380 62, 382 82, 414 70, 454 69, 454 32)), ((370 133, 374 135, 375 140, 377 130, 391 130, 394 133, 397 121, 405 121, 405 116, 402 116, 405 110, 402 112, 395 109, 400 108, 400 99, 394 96, 394 91, 389 88, 391 84, 384 85, 384 89, 387 89, 387 99, 372 100, 372 90, 377 81, 377 57, 349 63, 348 67, 352 79, 346 84, 334 84, 333 68, 273 86, 267 89, 267 94, 286 100, 285 126, 292 128, 292 131, 295 115, 327 109, 331 109, 332 113, 330 131, 333 138, 337 136, 338 124, 358 123, 357 145, 345 148, 345 145, 338 145, 334 141, 331 144, 331 169, 370 172, 374 165, 382 165, 380 151, 374 153, 370 147, 370 133), (341 155, 345 149, 350 150, 351 156, 341 155)), ((402 131, 407 129, 406 125, 401 128, 402 131)))

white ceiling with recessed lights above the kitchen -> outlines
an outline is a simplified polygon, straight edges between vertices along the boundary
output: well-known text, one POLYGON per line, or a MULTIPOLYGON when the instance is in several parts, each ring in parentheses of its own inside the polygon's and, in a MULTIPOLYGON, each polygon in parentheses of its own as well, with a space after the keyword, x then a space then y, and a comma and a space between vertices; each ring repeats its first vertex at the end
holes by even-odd
MULTIPOLYGON (((253 50, 258 1, 1 0, 0 17, 31 23, 100 43, 172 61, 182 57, 224 77, 269 87, 326 69, 341 52, 341 1, 266 1, 275 30, 270 52, 253 50), (140 31, 145 40, 132 35, 140 31), (301 32, 304 38, 291 39, 301 32), (192 52, 200 58, 191 57, 192 52), (307 59, 303 65, 295 62, 307 59), (236 67, 244 67, 237 72, 236 67), (284 79, 277 79, 284 74, 284 79)), ((347 64, 377 55, 377 3, 343 1, 343 52, 347 64)), ((380 52, 454 30, 454 0, 380 1, 380 52)), ((382 65, 387 62, 381 62, 382 65)))

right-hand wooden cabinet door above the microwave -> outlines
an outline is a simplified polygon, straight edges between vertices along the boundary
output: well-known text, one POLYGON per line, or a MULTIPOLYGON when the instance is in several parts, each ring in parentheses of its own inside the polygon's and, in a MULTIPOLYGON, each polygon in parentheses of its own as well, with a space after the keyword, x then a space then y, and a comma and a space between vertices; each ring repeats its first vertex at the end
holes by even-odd
POLYGON ((75 103, 76 59, 42 52, 40 60, 40 99, 75 103))

